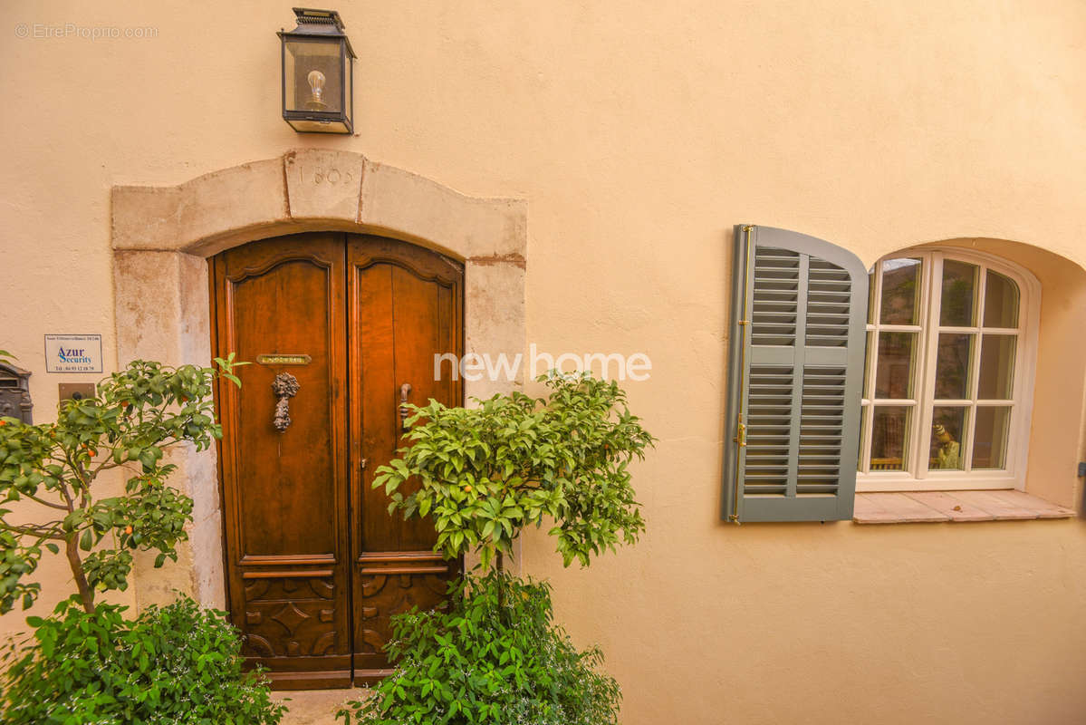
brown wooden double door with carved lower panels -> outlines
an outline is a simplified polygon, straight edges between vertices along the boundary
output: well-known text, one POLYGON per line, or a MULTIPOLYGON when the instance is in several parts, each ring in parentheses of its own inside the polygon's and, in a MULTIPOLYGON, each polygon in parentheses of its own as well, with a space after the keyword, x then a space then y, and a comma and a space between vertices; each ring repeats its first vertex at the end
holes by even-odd
MULTIPOLYGON (((401 402, 460 404, 434 355, 463 348, 463 266, 382 237, 320 233, 215 257, 219 466, 230 614, 282 689, 388 674, 389 617, 443 601, 459 564, 429 521, 388 512, 374 471, 401 445, 401 402), (409 386, 409 392, 408 388, 409 386)), ((447 371, 447 364, 445 370, 447 371)))

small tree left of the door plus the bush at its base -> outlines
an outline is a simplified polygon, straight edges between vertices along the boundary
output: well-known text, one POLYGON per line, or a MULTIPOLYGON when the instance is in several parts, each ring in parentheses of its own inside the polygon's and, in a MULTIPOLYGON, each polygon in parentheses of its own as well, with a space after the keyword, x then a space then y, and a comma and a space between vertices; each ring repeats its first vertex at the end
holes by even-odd
POLYGON ((55 423, 0 418, 0 501, 34 504, 18 507, 21 518, 0 508, 0 612, 34 603, 40 587, 31 577, 46 550, 64 549, 78 590, 52 616, 27 617, 33 633, 22 641, 0 646, 5 724, 282 718, 267 682, 243 671, 225 613, 186 596, 135 620, 125 607, 96 603, 97 592, 128 586, 132 550, 157 551, 161 566, 188 538, 192 500, 168 485, 175 466, 164 451, 205 449, 222 435, 212 385, 219 376, 240 385, 231 370, 244 363, 232 354, 215 362, 217 370, 136 361, 99 383, 96 397, 63 403, 55 423), (127 473, 125 492, 101 498, 96 484, 113 470, 127 473))

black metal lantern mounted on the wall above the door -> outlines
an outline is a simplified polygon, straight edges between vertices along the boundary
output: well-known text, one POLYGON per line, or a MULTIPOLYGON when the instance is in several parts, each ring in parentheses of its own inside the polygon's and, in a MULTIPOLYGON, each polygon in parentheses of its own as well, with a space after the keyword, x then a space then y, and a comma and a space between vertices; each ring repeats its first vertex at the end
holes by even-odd
POLYGON ((282 117, 299 133, 354 130, 351 41, 334 10, 294 8, 298 27, 282 40, 282 117))

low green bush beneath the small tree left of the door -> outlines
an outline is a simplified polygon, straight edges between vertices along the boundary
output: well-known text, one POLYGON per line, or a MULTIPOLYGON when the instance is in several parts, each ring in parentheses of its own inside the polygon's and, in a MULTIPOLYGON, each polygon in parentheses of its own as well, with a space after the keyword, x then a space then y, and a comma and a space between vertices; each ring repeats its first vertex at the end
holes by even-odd
POLYGON ((188 598, 87 613, 76 597, 53 616, 28 617, 33 638, 3 654, 5 725, 275 725, 283 707, 256 673, 242 673, 240 642, 222 612, 188 598))

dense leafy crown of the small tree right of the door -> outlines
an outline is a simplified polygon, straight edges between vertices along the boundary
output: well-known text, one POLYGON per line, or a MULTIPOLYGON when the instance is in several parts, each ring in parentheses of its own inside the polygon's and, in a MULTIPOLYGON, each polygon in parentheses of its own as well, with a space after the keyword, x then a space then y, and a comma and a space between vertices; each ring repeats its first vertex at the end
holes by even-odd
POLYGON ((408 407, 409 445, 374 478, 392 500, 389 513, 431 516, 438 550, 449 559, 478 551, 483 566, 546 516, 567 566, 636 541, 645 522, 627 466, 654 438, 614 380, 539 379, 545 399, 514 392, 478 408, 408 407))

